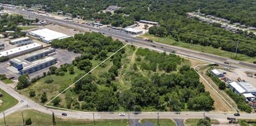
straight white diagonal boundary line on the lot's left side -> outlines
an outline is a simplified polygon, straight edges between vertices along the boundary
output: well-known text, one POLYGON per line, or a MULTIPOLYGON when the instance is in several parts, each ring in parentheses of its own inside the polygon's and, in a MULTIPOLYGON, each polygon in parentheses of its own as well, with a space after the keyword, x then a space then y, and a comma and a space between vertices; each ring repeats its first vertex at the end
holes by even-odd
MULTIPOLYGON (((65 91, 67 91, 70 87, 72 87, 73 85, 75 85, 77 82, 79 82, 82 78, 84 78, 86 75, 88 75, 90 72, 92 72, 94 69, 98 68, 98 66, 100 66, 101 64, 103 64, 105 61, 109 60, 110 57, 114 56, 115 53, 118 53, 121 49, 125 48, 127 44, 123 45, 122 48, 118 49, 118 51, 114 52, 112 55, 110 55, 108 58, 106 58, 104 61, 102 61, 100 64, 98 64, 97 66, 95 66, 95 68, 93 68, 92 70, 90 70, 88 73, 84 74, 81 78, 77 79, 76 82, 72 83, 72 85, 70 85, 69 87, 67 87, 67 89, 61 91, 60 94, 56 95, 53 99, 57 98, 58 96, 60 96, 62 93, 64 93, 65 91)), ((46 104, 44 104, 44 106, 47 106, 47 104, 51 103, 52 100, 49 100, 49 102, 47 102, 46 104)))

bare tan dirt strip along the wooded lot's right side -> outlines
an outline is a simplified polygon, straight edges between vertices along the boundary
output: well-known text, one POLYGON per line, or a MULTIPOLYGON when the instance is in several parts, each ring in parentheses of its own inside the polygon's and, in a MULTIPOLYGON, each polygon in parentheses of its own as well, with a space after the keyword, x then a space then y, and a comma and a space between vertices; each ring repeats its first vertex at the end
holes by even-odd
POLYGON ((214 108, 215 110, 213 111, 224 111, 224 112, 230 112, 230 111, 234 111, 232 109, 232 107, 237 108, 236 103, 234 102, 233 99, 231 99, 226 93, 225 91, 222 90, 218 90, 218 86, 212 81, 212 79, 210 79, 207 75, 205 75, 205 72, 208 70, 208 66, 201 66, 201 68, 199 69, 199 73, 209 82, 210 86, 208 85, 207 82, 204 81, 203 78, 200 78, 200 81, 203 82, 204 86, 205 86, 205 90, 209 91, 210 96, 213 98, 214 100, 214 108), (211 87, 212 86, 212 87, 211 87), (232 107, 229 106, 228 103, 225 102, 225 100, 223 100, 221 98, 220 95, 218 95, 216 93, 215 90, 213 90, 212 88, 214 88, 216 91, 218 91, 218 93, 226 99, 226 101, 231 104, 232 107))

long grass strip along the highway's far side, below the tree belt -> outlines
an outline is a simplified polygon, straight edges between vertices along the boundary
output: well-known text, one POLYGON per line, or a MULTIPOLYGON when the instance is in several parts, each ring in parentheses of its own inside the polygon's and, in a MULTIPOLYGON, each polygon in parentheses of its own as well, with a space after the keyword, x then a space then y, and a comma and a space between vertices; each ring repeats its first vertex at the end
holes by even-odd
MULTIPOLYGON (((154 35, 149 35, 149 34, 141 35, 138 37, 148 38, 148 39, 151 39, 154 41, 158 41, 159 43, 175 45, 177 47, 193 49, 195 51, 205 52, 205 53, 209 53, 209 54, 215 54, 218 56, 223 56, 223 57, 228 57, 228 58, 234 57, 234 52, 223 51, 220 48, 216 49, 216 48, 209 47, 209 46, 204 47, 203 45, 183 43, 181 41, 175 41, 172 37, 156 37, 154 35)), ((247 61, 247 62, 256 61, 256 57, 249 57, 249 56, 246 56, 245 54, 237 54, 237 56, 238 56, 237 60, 247 61)))

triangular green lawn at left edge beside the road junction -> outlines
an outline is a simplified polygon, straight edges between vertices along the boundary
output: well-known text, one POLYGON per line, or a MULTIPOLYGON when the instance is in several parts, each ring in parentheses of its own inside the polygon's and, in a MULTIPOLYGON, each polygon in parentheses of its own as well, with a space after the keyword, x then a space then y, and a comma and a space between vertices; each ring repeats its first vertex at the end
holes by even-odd
POLYGON ((0 89, 0 92, 3 94, 3 96, 0 98, 3 101, 3 103, 0 105, 0 112, 3 112, 8 108, 15 106, 15 104, 18 104, 18 100, 13 98, 13 96, 9 95, 2 89, 0 89))

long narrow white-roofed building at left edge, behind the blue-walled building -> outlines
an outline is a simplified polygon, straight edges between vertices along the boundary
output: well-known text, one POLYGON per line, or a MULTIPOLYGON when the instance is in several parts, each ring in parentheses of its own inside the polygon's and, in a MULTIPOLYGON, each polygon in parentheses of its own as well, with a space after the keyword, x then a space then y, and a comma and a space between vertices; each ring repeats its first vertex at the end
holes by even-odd
POLYGON ((22 47, 17 47, 17 48, 13 48, 13 49, 9 49, 7 51, 2 51, 0 52, 0 57, 2 56, 7 56, 9 58, 15 57, 15 56, 19 56, 22 54, 26 54, 32 51, 35 51, 37 49, 42 48, 43 45, 38 44, 38 43, 31 43, 28 45, 24 45, 22 47))

